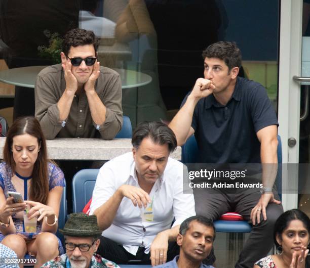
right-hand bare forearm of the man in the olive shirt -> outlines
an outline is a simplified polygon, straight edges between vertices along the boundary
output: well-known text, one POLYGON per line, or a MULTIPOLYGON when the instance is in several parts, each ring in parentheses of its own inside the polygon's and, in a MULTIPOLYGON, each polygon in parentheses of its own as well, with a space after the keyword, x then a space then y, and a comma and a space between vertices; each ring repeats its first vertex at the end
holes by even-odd
POLYGON ((89 109, 91 111, 93 121, 97 125, 103 124, 105 121, 106 108, 100 100, 98 94, 95 90, 86 91, 86 97, 88 100, 89 109))

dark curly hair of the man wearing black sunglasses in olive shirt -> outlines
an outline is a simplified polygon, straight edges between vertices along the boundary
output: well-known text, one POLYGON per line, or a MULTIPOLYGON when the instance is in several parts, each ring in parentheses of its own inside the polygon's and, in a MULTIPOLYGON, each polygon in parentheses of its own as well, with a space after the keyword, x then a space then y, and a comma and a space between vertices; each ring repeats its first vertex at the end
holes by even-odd
POLYGON ((85 44, 92 44, 95 52, 98 49, 98 40, 95 38, 93 31, 84 29, 72 29, 69 30, 62 40, 62 52, 68 56, 71 47, 84 46, 85 44))

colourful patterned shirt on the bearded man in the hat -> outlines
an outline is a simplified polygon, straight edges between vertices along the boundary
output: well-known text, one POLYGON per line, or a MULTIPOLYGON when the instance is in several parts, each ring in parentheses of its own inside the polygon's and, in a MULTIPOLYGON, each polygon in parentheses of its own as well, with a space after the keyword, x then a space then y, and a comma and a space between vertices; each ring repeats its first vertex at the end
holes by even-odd
MULTIPOLYGON (((70 268, 70 261, 67 254, 57 256, 55 259, 48 261, 41 266, 45 268, 70 268)), ((94 254, 91 260, 90 268, 121 268, 118 264, 94 254)))

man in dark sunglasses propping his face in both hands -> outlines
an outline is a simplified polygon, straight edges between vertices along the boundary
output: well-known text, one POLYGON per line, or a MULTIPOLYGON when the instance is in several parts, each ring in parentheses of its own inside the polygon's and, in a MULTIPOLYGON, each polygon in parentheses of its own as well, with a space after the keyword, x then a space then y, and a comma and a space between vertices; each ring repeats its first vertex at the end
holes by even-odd
POLYGON ((122 128, 120 75, 97 61, 92 31, 72 29, 63 39, 61 64, 42 70, 35 83, 35 117, 47 139, 110 140, 122 128))

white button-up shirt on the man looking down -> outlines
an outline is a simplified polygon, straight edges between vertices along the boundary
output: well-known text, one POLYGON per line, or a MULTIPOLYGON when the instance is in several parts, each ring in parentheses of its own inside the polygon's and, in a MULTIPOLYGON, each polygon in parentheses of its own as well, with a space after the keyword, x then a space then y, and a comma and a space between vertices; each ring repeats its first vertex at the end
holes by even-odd
MULTIPOLYGON (((149 194, 153 199, 153 221, 142 221, 141 210, 129 198, 123 198, 111 226, 102 235, 120 245, 133 255, 139 247, 147 254, 156 235, 170 229, 195 215, 193 194, 183 194, 183 169, 181 162, 169 158, 161 178, 149 194), (173 218, 175 221, 171 227, 173 218)), ((106 162, 99 170, 90 214, 104 204, 122 185, 139 187, 132 153, 127 153, 106 162)))

